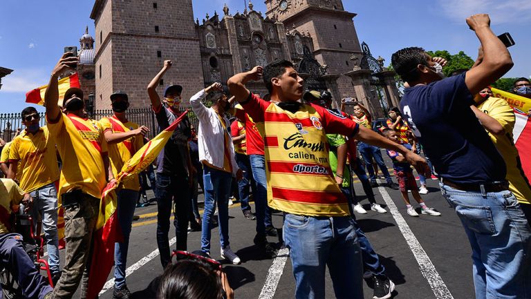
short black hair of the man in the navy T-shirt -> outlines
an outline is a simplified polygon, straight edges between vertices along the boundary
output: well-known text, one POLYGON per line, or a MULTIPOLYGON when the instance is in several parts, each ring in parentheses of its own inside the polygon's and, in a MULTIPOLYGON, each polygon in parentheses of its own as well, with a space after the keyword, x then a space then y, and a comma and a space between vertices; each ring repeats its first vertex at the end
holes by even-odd
POLYGON ((395 72, 406 82, 416 81, 420 74, 417 66, 423 64, 428 66, 426 51, 419 47, 403 48, 393 53, 391 64, 395 72))

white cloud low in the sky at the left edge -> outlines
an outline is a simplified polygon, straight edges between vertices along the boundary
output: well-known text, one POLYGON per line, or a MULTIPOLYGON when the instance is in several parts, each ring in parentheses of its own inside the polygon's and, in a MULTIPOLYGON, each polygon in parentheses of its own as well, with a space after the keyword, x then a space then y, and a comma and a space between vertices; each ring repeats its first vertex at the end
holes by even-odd
POLYGON ((14 70, 2 78, 1 93, 27 93, 39 86, 48 84, 44 70, 14 70))

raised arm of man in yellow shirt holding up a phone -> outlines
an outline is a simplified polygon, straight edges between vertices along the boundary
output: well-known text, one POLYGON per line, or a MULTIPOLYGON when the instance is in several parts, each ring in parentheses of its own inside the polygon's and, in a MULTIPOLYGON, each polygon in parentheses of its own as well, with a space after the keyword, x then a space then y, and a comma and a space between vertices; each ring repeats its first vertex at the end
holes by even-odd
POLYGON ((73 68, 73 66, 77 64, 78 59, 73 55, 73 52, 64 53, 50 74, 48 88, 46 88, 46 93, 44 93, 44 106, 46 107, 46 117, 51 122, 57 121, 61 113, 61 109, 59 109, 59 105, 57 104, 59 101, 59 87, 57 86, 57 79, 59 79, 59 75, 63 73, 64 70, 73 68))

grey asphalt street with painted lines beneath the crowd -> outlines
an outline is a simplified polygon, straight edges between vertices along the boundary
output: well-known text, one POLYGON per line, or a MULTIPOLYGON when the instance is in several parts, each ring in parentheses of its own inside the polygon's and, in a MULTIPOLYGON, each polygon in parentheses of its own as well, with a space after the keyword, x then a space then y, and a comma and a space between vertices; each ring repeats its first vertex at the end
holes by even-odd
MULTIPOLYGON (((391 162, 385 156, 385 152, 382 151, 382 154, 386 164, 390 167, 391 162)), ((396 182, 394 177, 393 180, 396 182)), ((441 216, 420 215, 420 217, 413 218, 406 213, 400 191, 389 188, 373 189, 376 201, 386 207, 388 211, 389 208, 385 204, 384 196, 389 194, 389 200, 392 200, 398 208, 397 212, 405 220, 400 222, 400 220, 396 220, 398 219, 397 216, 393 217, 390 212, 381 214, 371 211, 360 182, 355 180, 357 197, 368 211, 365 215, 356 214, 357 222, 380 256, 380 260, 386 268, 386 274, 396 284, 393 298, 474 298, 471 249, 463 227, 454 210, 440 194, 438 181, 428 180, 427 186, 429 193, 422 195, 422 197, 427 206, 440 211, 441 216), (409 227, 413 239, 418 240, 416 246, 411 244, 411 235, 406 233, 407 238, 404 237, 404 227, 409 227), (425 256, 419 252, 425 252, 425 256), (433 268, 430 268, 430 264, 433 264, 433 268), (444 289, 447 292, 441 291, 444 289)), ((153 197, 151 191, 148 195, 153 197)), ((412 203, 415 202, 411 196, 410 200, 412 203)), ((203 201, 202 194, 200 194, 199 201, 203 201)), ((417 211, 420 214, 418 204, 413 204, 413 206, 418 208, 417 211)), ((255 233, 255 221, 243 218, 238 203, 229 208, 230 244, 232 250, 241 258, 242 263, 232 265, 224 261, 221 262, 224 263, 224 269, 227 272, 230 285, 234 289, 235 297, 293 298, 295 278, 292 275, 290 259, 286 259, 287 255, 277 257, 276 261, 259 256, 254 250, 252 242, 255 233), (283 267, 279 267, 279 264, 282 264, 282 258, 286 260, 286 263, 283 267), (277 269, 277 278, 279 276, 278 283, 275 283, 275 280, 268 280, 268 272, 274 263, 276 264, 274 268, 277 269), (260 296, 266 281, 268 282, 268 291, 260 296)), ((202 212, 202 209, 200 211, 202 212)), ((252 211, 254 211, 253 204, 252 211)), ((134 270, 127 276, 127 286, 133 294, 136 293, 137 298, 145 298, 142 293, 138 292, 146 289, 151 280, 162 273, 160 257, 156 252, 153 253, 157 249, 156 204, 152 203, 149 206, 137 208, 135 215, 138 216, 138 219, 133 222, 127 261, 127 267, 133 265, 131 269, 134 270)), ((272 219, 274 226, 281 232, 281 213, 274 213, 272 219)), ((174 230, 170 229, 169 238, 174 237, 174 230)), ((268 237, 269 242, 274 243, 277 248, 281 247, 280 239, 268 237)), ((201 232, 189 232, 189 251, 200 248, 201 232)), ((220 259, 217 228, 212 231, 211 253, 212 258, 220 259)), ((63 251, 61 258, 64 262, 63 251)), ((112 278, 113 271, 109 275, 109 280, 112 278)), ((365 298, 373 297, 372 284, 372 280, 365 281, 365 298)), ((112 298, 112 293, 113 289, 110 287, 104 293, 100 293, 100 298, 112 298)), ((326 298, 334 297, 333 285, 327 276, 326 298)))

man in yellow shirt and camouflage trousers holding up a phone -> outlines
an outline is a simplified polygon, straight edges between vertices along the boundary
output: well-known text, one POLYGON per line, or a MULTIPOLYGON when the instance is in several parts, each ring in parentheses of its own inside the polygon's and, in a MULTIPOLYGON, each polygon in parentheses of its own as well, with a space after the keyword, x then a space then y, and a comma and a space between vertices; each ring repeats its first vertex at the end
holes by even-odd
POLYGON ((77 64, 77 57, 72 55, 67 52, 59 59, 44 95, 48 130, 63 161, 59 195, 64 206, 66 258, 62 276, 53 290, 54 298, 72 298, 81 280, 81 297, 85 298, 100 197, 107 180, 114 180, 103 129, 97 122, 84 118, 83 91, 66 90, 62 101, 65 113, 59 109, 57 79, 77 64))

